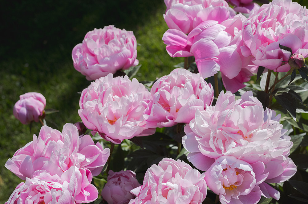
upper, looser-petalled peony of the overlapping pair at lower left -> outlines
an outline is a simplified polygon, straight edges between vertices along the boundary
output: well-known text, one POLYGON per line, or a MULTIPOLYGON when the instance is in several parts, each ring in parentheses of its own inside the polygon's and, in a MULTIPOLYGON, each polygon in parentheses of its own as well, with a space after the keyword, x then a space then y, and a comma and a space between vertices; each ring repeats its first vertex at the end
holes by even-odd
POLYGON ((109 155, 109 148, 103 149, 99 142, 95 145, 89 135, 79 138, 76 126, 67 123, 62 133, 43 126, 39 136, 34 134, 33 141, 17 150, 5 167, 23 180, 32 178, 39 170, 60 177, 71 166, 87 168, 97 176, 109 155))

